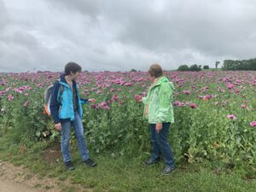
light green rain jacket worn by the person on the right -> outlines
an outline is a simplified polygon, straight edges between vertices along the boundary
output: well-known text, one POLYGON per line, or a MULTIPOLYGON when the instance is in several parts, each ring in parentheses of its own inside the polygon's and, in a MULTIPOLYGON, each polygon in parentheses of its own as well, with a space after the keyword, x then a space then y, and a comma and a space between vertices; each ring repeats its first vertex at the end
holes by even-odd
POLYGON ((144 118, 148 119, 149 124, 174 123, 173 90, 173 83, 166 77, 161 77, 149 87, 147 96, 143 97, 144 118))

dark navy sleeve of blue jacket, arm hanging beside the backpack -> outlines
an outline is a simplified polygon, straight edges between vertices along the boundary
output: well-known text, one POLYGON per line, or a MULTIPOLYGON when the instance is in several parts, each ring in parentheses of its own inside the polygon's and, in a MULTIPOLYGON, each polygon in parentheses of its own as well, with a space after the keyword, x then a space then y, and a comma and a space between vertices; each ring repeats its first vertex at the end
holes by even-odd
POLYGON ((55 124, 60 123, 61 119, 59 118, 59 109, 60 102, 58 102, 58 94, 59 94, 60 84, 59 81, 56 81, 53 87, 53 92, 49 102, 49 110, 52 118, 55 121, 55 124))

